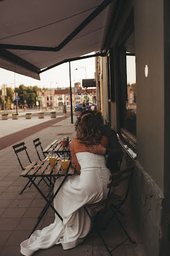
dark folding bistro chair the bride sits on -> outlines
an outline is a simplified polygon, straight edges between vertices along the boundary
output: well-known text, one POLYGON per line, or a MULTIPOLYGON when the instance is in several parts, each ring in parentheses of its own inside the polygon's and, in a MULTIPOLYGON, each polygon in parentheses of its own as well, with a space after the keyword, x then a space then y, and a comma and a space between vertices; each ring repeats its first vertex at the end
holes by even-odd
POLYGON ((120 208, 123 206, 124 203, 126 203, 127 196, 129 195, 131 180, 132 180, 132 176, 133 176, 133 170, 134 170, 134 166, 129 166, 129 167, 126 167, 126 168, 112 174, 109 178, 109 180, 111 180, 111 182, 109 182, 109 184, 107 185, 107 188, 109 188, 107 199, 105 199, 99 203, 86 204, 84 206, 84 209, 85 209, 86 213, 88 214, 92 223, 96 222, 96 219, 97 219, 97 216, 99 215, 99 213, 105 214, 108 211, 111 211, 112 215, 109 218, 109 220, 107 221, 107 224, 105 225, 105 227, 102 228, 102 230, 105 230, 107 228, 107 226, 109 225, 109 223, 111 222, 111 220, 116 218, 116 220, 120 224, 120 227, 123 229, 124 233, 126 234, 127 239, 125 239, 122 243, 118 244, 118 246, 114 247, 112 250, 109 250, 103 236, 100 233, 101 229, 100 229, 100 231, 99 231, 99 229, 97 230, 97 233, 100 236, 102 242, 104 243, 104 246, 107 248, 109 255, 112 255, 111 252, 114 251, 116 248, 118 248, 121 244, 126 242, 126 240, 128 240, 128 239, 130 240, 131 243, 135 243, 129 236, 129 233, 127 233, 126 229, 124 228, 124 226, 122 225, 122 223, 120 222, 119 217, 118 217, 118 213, 124 215, 120 211, 120 208), (123 182, 126 180, 128 180, 129 182, 127 185, 127 190, 126 190, 124 198, 122 198, 122 196, 116 195, 114 192, 112 193, 112 189, 114 189, 116 186, 118 186, 120 184, 120 182, 123 182), (92 216, 88 212, 88 209, 92 210, 96 214, 95 218, 92 218, 92 216))

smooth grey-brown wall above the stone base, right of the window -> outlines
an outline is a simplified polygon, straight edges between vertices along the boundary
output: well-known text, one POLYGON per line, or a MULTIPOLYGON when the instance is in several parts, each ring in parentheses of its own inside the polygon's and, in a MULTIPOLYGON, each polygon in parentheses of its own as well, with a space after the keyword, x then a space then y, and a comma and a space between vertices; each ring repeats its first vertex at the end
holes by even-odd
POLYGON ((160 0, 135 1, 138 161, 164 189, 164 13, 160 0), (148 65, 148 77, 145 77, 148 65))

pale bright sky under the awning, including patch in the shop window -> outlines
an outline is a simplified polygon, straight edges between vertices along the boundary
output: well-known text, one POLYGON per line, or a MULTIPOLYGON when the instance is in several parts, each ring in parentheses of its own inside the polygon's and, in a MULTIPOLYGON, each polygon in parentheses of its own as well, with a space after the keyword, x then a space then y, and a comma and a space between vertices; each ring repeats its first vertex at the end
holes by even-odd
MULTIPOLYGON (((93 54, 93 53, 89 53, 93 54)), ((135 82, 135 57, 127 57, 127 82, 135 82)), ((95 58, 86 58, 71 62, 71 86, 75 82, 81 82, 81 79, 95 78, 95 58)), ((28 76, 15 74, 16 87, 21 84, 25 86, 39 86, 41 88, 69 87, 69 63, 64 63, 58 67, 51 68, 40 74, 40 81, 28 76)), ((5 83, 7 86, 14 88, 14 72, 0 68, 0 87, 5 83)))

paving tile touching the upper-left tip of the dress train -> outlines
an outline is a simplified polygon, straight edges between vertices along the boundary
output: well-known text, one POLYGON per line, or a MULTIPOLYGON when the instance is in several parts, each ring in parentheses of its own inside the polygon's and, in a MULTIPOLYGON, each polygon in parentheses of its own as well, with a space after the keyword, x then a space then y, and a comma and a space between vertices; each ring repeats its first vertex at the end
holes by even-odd
POLYGON ((20 246, 20 243, 26 240, 30 233, 30 231, 14 231, 5 246, 20 246))

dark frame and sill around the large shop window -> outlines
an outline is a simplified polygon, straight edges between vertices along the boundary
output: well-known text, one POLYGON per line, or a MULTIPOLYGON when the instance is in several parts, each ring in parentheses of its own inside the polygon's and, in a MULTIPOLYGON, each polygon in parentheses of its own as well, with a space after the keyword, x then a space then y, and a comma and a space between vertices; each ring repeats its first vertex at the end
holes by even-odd
POLYGON ((129 39, 131 34, 134 32, 134 9, 131 10, 128 19, 123 27, 122 33, 120 33, 119 39, 115 45, 115 61, 116 67, 118 71, 115 70, 115 79, 118 86, 116 86, 116 90, 118 90, 118 124, 119 124, 119 140, 122 142, 123 145, 127 145, 128 147, 132 148, 133 151, 137 152, 137 137, 134 136, 130 131, 124 129, 122 126, 124 122, 124 114, 126 109, 126 101, 127 101, 127 72, 126 72, 126 47, 124 44, 129 39))

